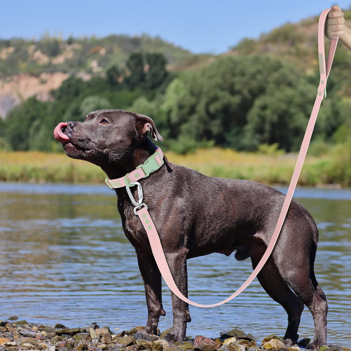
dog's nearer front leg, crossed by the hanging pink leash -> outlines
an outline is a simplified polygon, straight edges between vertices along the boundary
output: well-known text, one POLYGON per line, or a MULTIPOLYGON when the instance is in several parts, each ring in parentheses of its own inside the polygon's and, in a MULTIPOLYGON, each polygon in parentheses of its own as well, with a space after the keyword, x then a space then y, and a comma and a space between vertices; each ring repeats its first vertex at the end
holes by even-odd
MULTIPOLYGON (((187 249, 180 249, 172 253, 165 253, 168 266, 170 267, 174 282, 176 283, 180 292, 188 296, 188 274, 186 268, 187 249)), ((173 310, 173 327, 165 336, 165 340, 169 343, 185 340, 186 324, 191 322, 189 305, 183 300, 179 299, 173 292, 172 310, 173 310)))

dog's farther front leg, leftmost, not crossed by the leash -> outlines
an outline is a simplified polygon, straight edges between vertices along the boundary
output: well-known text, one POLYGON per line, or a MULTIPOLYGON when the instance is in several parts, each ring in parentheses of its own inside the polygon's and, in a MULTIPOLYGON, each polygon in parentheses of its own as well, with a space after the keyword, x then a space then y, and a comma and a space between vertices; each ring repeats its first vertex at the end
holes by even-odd
POLYGON ((153 256, 137 252, 137 257, 140 273, 144 281, 148 312, 145 332, 157 335, 159 318, 166 315, 162 308, 161 273, 153 256))

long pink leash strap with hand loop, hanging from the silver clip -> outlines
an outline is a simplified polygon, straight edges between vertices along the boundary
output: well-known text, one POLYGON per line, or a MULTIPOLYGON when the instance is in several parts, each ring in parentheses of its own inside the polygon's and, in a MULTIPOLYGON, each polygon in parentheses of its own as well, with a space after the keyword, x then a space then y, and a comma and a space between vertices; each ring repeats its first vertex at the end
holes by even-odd
POLYGON ((160 270, 163 279, 165 280, 168 287, 171 289, 171 291, 176 296, 178 296, 181 300, 183 300, 184 302, 186 302, 190 305, 198 306, 198 307, 215 307, 215 306, 222 305, 222 304, 230 301, 234 297, 238 296, 241 292, 244 291, 244 289, 247 286, 249 286, 249 284, 252 282, 252 280, 257 276, 257 274, 262 269, 262 267, 265 265, 265 263, 267 262, 268 258, 270 257, 270 255, 274 249, 274 245, 276 244, 280 230, 282 229, 282 226, 283 226, 283 223, 284 223, 284 220, 286 217, 286 213, 289 209, 289 206, 290 206, 290 203, 291 203, 291 200, 292 200, 292 197, 293 197, 296 185, 297 185, 297 181, 299 179, 299 175, 300 175, 300 172, 302 170, 302 166, 303 166, 303 163, 304 163, 304 160, 306 157, 307 149, 308 149, 309 144, 310 144, 314 124, 316 123, 320 104, 321 104, 321 102, 326 94, 325 93, 325 85, 326 85, 326 81, 327 81, 327 78, 328 78, 328 75, 330 72, 333 57, 335 54, 336 45, 338 42, 338 38, 333 38, 331 40, 329 54, 328 54, 327 60, 325 62, 324 26, 325 26, 325 19, 326 19, 327 14, 329 13, 329 11, 331 11, 331 9, 324 10, 319 17, 319 23, 318 23, 318 51, 319 51, 319 55, 318 56, 319 56, 319 68, 320 68, 320 82, 319 82, 320 84, 318 87, 316 101, 314 102, 311 117, 310 117, 310 120, 307 124, 306 132, 305 132, 305 135, 304 135, 304 138, 302 141, 302 145, 300 148, 300 152, 299 152, 299 155, 298 155, 298 158, 296 161, 296 166, 295 166, 295 169, 294 169, 291 181, 290 181, 290 185, 289 185, 289 188, 288 188, 285 200, 284 200, 282 211, 280 212, 277 225, 274 229, 272 238, 267 246, 267 250, 264 253, 264 255, 262 256, 261 260, 259 261, 257 267, 251 273, 250 277, 247 278, 245 283, 243 285, 241 285, 239 287, 239 289, 236 292, 234 292, 230 297, 228 297, 225 300, 218 302, 216 304, 202 305, 202 304, 198 304, 196 302, 192 302, 191 300, 189 300, 179 291, 176 283, 173 280, 171 271, 170 271, 168 264, 167 264, 165 254, 164 254, 163 249, 162 249, 160 238, 158 236, 155 225, 150 217, 150 214, 147 211, 147 208, 143 207, 143 208, 141 208, 141 210, 137 211, 137 214, 141 220, 141 223, 143 223, 143 226, 146 230, 148 239, 150 240, 151 250, 152 250, 152 253, 154 255, 158 269, 160 270))

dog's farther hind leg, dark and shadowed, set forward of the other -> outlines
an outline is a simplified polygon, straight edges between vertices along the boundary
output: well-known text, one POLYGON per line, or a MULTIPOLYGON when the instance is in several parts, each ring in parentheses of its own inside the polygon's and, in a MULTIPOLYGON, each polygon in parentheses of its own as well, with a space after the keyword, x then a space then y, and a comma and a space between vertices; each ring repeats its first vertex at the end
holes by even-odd
MULTIPOLYGON (((262 253, 251 255, 253 269, 256 268, 261 257, 262 253)), ((267 263, 258 273, 257 278, 267 294, 284 307, 288 316, 288 325, 284 341, 286 346, 294 345, 299 337, 297 330, 304 304, 284 281, 272 257, 268 259, 267 263)))

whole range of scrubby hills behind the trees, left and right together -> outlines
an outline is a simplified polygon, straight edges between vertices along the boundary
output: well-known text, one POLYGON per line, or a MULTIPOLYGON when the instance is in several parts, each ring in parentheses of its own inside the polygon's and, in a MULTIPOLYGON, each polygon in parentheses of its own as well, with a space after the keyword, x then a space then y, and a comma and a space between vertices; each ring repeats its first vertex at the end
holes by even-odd
MULTIPOLYGON (((351 7, 344 13, 346 25, 351 27, 351 7)), ((58 88, 69 75, 90 80, 93 76, 105 75, 112 65, 123 68, 132 52, 163 53, 168 70, 175 72, 197 70, 223 56, 268 54, 292 62, 307 75, 315 74, 318 68, 318 18, 287 23, 261 34, 259 39, 244 38, 228 52, 217 56, 195 55, 146 34, 141 37, 110 35, 99 39, 68 40, 46 35, 38 41, 0 40, 0 117, 5 117, 13 106, 33 95, 46 101, 50 90, 58 88)), ((328 47, 329 40, 326 40, 328 47)), ((351 97, 350 69, 351 54, 338 44, 330 83, 333 77, 343 77, 339 90, 345 97, 351 97)))

